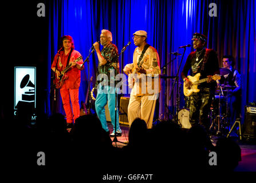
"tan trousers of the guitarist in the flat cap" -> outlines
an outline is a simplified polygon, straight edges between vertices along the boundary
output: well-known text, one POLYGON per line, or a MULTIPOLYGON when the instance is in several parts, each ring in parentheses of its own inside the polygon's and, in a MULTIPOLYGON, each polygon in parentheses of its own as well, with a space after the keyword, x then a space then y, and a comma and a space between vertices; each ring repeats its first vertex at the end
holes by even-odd
POLYGON ((132 125, 136 118, 141 118, 146 122, 148 129, 152 128, 157 97, 158 94, 152 96, 135 96, 131 94, 128 105, 129 126, 132 125))

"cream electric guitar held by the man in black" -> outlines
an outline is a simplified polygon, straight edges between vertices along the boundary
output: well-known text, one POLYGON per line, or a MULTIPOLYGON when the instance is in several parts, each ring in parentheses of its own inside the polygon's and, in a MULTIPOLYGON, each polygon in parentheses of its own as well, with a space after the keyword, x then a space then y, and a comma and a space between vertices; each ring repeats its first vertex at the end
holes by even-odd
MULTIPOLYGON (((184 96, 189 97, 192 95, 193 92, 198 93, 200 90, 198 89, 198 85, 202 82, 206 82, 208 78, 204 78, 204 79, 200 79, 201 74, 198 73, 196 74, 194 77, 192 77, 191 75, 188 75, 188 81, 192 82, 192 86, 190 87, 186 87, 185 85, 183 86, 183 92, 184 92, 184 96)), ((211 77, 212 79, 214 79, 215 81, 220 79, 220 75, 212 75, 211 77)))

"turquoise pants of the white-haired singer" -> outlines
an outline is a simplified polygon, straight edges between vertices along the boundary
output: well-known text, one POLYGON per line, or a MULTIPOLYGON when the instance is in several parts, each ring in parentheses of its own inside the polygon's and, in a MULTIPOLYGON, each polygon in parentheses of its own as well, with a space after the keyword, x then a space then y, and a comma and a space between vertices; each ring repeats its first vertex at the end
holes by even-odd
POLYGON ((115 129, 122 132, 119 126, 118 108, 116 110, 116 126, 115 126, 115 100, 116 100, 115 87, 101 86, 101 85, 98 86, 97 97, 95 101, 95 109, 98 117, 100 118, 101 125, 106 132, 109 131, 106 116, 105 116, 105 105, 107 105, 107 101, 108 101, 109 114, 111 117, 111 123, 114 129, 113 132, 115 132, 115 129))

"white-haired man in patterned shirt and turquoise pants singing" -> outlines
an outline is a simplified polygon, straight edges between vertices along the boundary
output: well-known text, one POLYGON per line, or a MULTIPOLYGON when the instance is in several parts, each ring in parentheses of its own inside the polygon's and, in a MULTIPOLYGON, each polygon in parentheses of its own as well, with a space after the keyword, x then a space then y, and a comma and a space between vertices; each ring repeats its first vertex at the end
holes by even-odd
POLYGON ((113 125, 113 133, 110 136, 121 136, 122 130, 119 126, 119 113, 118 108, 116 111, 115 117, 115 102, 116 100, 116 88, 115 88, 115 76, 119 74, 119 61, 118 61, 118 50, 116 45, 112 43, 112 33, 109 30, 101 30, 100 34, 100 43, 103 45, 103 49, 100 51, 99 43, 95 42, 93 46, 95 47, 97 57, 99 59, 99 65, 97 70, 97 97, 95 101, 95 109, 98 117, 100 118, 101 125, 103 129, 109 133, 107 120, 105 116, 105 105, 107 105, 108 101, 108 109, 111 117, 111 123, 113 125), (111 72, 113 74, 111 74, 111 72), (107 76, 106 79, 101 79, 99 81, 100 76, 107 76), (107 82, 106 82, 107 81, 107 82), (116 126, 115 126, 116 120, 116 126))

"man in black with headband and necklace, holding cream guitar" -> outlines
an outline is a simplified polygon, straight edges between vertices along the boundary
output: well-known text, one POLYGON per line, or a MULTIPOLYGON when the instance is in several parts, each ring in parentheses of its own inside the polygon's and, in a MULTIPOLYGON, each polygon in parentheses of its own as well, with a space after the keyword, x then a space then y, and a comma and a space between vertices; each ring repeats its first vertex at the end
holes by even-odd
POLYGON ((192 40, 195 51, 192 51, 187 57, 182 71, 182 78, 184 86, 191 87, 192 83, 187 78, 189 70, 191 70, 192 76, 200 73, 200 79, 208 77, 207 82, 200 83, 198 86, 200 91, 190 96, 191 125, 195 126, 199 120, 199 124, 208 130, 210 128, 208 112, 216 87, 216 82, 211 76, 219 74, 219 62, 216 52, 212 49, 206 49, 206 35, 194 33, 192 40))

